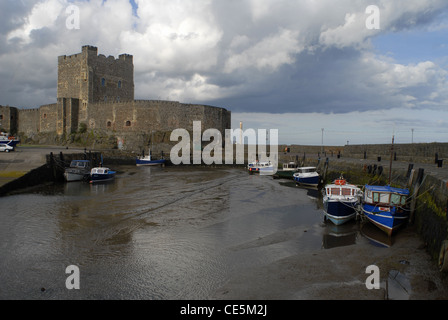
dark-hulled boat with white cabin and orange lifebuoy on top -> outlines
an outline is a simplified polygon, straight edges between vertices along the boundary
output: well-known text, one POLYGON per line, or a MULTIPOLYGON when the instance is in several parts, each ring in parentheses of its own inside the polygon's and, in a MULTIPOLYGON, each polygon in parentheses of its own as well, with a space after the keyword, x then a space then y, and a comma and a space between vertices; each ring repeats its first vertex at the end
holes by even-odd
POLYGON ((325 217, 341 225, 356 217, 361 203, 361 189, 347 183, 342 176, 322 189, 325 217))

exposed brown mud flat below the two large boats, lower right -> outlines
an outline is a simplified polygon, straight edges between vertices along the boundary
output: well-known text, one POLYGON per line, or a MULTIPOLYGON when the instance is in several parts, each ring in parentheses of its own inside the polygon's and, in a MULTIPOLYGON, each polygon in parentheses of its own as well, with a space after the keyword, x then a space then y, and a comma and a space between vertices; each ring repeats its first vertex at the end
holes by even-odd
POLYGON ((230 279, 212 299, 448 299, 447 280, 414 230, 407 228, 389 248, 336 247, 246 270, 230 279), (369 265, 379 267, 380 289, 366 287, 369 265))

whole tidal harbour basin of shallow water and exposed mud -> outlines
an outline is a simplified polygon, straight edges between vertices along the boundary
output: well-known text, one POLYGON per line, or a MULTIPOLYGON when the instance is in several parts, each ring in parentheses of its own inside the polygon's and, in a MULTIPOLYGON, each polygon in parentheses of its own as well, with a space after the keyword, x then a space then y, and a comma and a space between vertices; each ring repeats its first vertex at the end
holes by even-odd
POLYGON ((392 237, 358 219, 336 226, 319 190, 245 167, 109 166, 107 183, 0 198, 3 299, 447 298, 416 226, 392 237), (65 286, 69 265, 79 290, 65 286), (369 265, 379 290, 366 288, 369 265))

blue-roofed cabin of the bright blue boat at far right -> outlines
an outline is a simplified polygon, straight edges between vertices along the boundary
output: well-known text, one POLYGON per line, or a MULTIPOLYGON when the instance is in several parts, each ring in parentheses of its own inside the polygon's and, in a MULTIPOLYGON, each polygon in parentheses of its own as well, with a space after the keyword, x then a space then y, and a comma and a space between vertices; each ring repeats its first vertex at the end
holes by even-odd
POLYGON ((409 190, 407 189, 390 186, 366 186, 364 202, 373 205, 404 207, 408 196, 409 190))

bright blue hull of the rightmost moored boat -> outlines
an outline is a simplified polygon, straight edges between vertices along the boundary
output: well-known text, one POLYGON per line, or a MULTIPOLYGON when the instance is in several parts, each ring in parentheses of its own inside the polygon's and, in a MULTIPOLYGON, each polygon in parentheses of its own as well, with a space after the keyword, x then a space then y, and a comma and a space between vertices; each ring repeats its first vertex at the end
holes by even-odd
POLYGON ((389 208, 389 211, 380 210, 379 206, 364 204, 362 212, 364 216, 375 226, 386 232, 391 236, 392 233, 406 224, 409 219, 408 210, 396 210, 394 207, 389 208))

